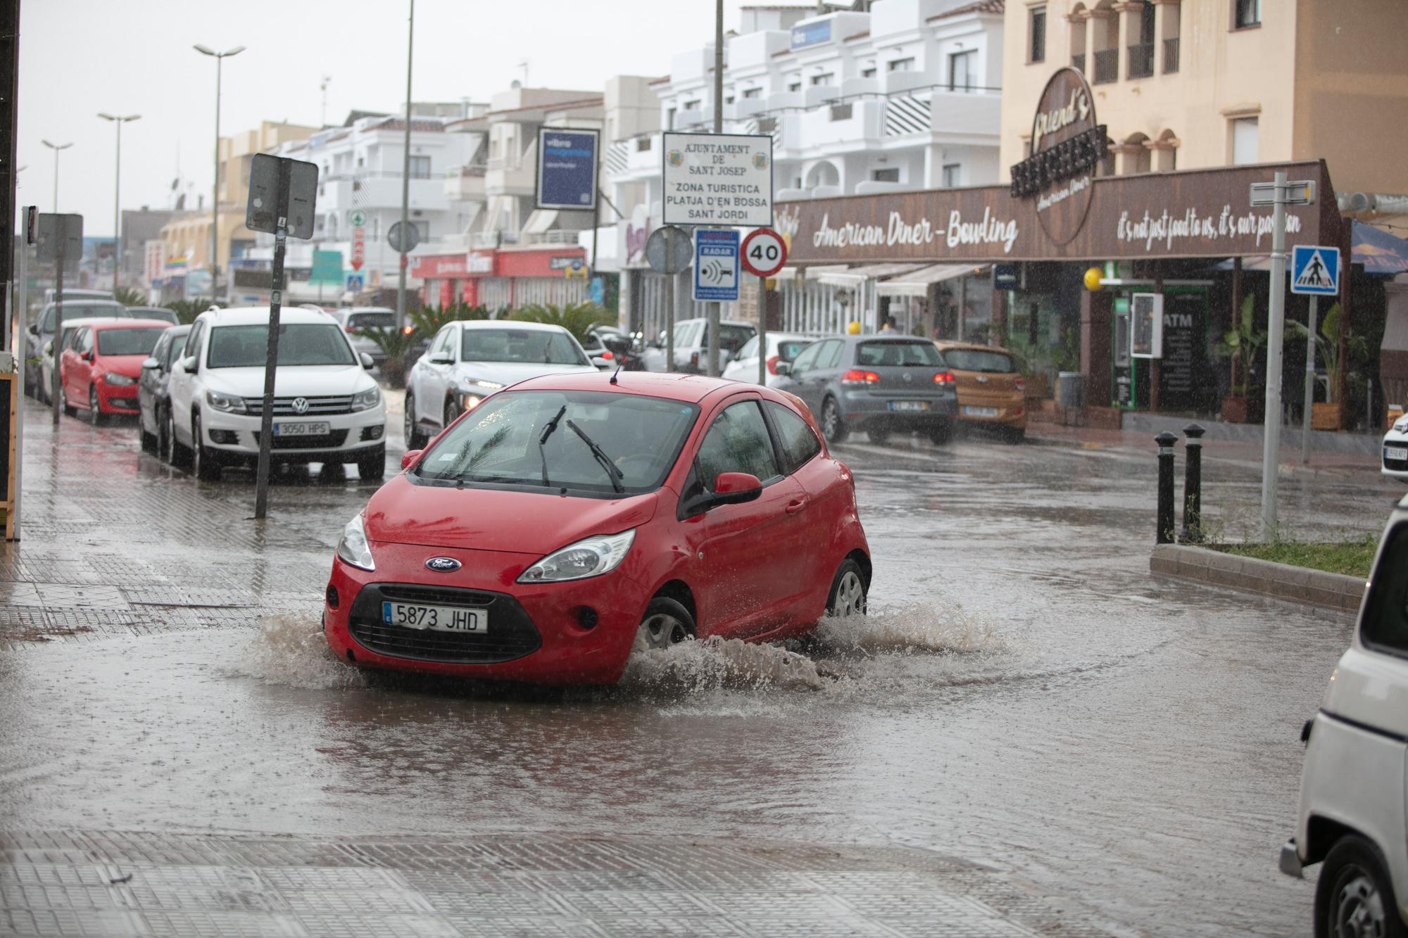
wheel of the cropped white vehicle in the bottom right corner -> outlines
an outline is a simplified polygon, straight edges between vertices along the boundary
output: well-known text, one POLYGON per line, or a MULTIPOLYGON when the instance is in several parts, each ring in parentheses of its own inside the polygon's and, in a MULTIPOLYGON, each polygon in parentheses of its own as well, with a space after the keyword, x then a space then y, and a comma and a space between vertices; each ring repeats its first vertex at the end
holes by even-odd
POLYGON ((1378 851, 1354 834, 1331 848, 1315 884, 1315 938, 1349 935, 1408 935, 1378 851))

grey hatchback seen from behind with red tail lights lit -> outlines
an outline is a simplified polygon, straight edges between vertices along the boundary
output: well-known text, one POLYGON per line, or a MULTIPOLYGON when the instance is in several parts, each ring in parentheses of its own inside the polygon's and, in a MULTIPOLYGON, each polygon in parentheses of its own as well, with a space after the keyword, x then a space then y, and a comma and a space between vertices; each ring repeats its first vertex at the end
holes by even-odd
POLYGON ((777 363, 777 390, 801 397, 828 442, 865 430, 872 442, 919 431, 948 442, 959 413, 953 372, 934 342, 912 335, 819 339, 791 365, 777 363))

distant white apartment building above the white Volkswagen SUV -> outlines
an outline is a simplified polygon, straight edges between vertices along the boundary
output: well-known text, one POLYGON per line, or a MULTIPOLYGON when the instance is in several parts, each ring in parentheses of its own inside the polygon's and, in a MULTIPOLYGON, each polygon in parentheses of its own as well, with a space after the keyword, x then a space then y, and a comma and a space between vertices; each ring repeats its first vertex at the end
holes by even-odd
MULTIPOLYGON (((482 149, 483 134, 448 132, 451 124, 484 110, 483 104, 413 104, 410 162, 410 224, 420 241, 466 232, 477 221, 473 200, 452 199, 446 177, 459 179, 482 149), (446 114, 445 111, 451 111, 446 114)), ((345 292, 331 284, 308 282, 314 251, 342 254, 344 279, 352 269, 352 214, 365 214, 365 289, 394 286, 400 255, 387 244, 390 227, 401 220, 401 175, 406 154, 406 120, 400 114, 352 114, 342 127, 324 128, 307 139, 289 141, 272 151, 318 166, 318 197, 311 241, 289 241, 284 266, 289 270, 287 297, 291 301, 335 304, 345 292)), ((258 235, 249 252, 253 263, 266 265, 273 256, 273 237, 258 235)), ((242 289, 235 273, 237 297, 256 297, 242 289)), ((411 283, 418 287, 418 283, 411 283)))

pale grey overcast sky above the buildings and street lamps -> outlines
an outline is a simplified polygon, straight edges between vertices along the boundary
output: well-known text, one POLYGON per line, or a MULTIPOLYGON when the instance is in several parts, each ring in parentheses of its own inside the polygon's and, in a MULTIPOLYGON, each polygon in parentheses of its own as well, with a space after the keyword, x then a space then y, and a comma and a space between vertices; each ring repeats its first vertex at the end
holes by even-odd
MULTIPOLYGON (((755 0, 756 1, 756 0, 755 0)), ((725 0, 736 28, 745 0, 725 0)), ((803 6, 798 3, 797 6, 803 6)), ((18 204, 84 215, 113 234, 114 128, 122 127, 122 207, 170 206, 180 176, 208 204, 214 59, 191 49, 249 46, 225 59, 221 130, 260 120, 317 124, 352 108, 391 110, 406 94, 406 0, 23 0, 18 204)), ((600 89, 611 75, 666 75, 670 56, 714 34, 712 0, 417 0, 417 100, 487 100, 528 59, 534 87, 600 89)))

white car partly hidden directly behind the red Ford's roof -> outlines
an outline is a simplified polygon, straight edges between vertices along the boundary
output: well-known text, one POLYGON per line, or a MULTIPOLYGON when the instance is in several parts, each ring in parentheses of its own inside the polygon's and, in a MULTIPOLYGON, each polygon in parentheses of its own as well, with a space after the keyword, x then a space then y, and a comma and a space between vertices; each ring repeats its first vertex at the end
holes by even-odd
POLYGON ((406 448, 420 449, 500 387, 539 375, 594 370, 582 345, 560 325, 446 323, 406 376, 406 448))

